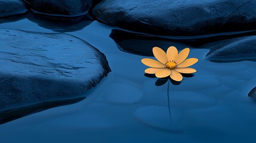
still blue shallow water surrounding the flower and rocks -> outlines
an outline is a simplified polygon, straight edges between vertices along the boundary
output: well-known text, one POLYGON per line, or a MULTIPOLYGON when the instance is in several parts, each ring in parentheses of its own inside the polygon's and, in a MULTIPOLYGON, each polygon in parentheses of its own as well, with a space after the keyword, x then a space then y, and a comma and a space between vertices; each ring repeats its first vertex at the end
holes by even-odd
MULTIPOLYGON (((27 19, 0 28, 52 32, 27 19)), ((157 78, 144 76, 146 57, 121 51, 109 37, 113 28, 94 21, 69 32, 106 55, 109 76, 81 102, 0 125, 1 142, 254 142, 255 62, 212 63, 209 49, 190 47, 189 57, 199 59, 194 76, 156 86, 157 78)))

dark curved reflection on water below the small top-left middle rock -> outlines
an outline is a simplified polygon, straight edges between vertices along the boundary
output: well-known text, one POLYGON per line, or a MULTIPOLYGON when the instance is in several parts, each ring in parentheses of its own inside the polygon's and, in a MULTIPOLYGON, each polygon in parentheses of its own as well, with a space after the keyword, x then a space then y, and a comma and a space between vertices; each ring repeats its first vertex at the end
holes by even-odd
POLYGON ((54 32, 74 32, 84 29, 94 21, 88 14, 79 17, 51 17, 49 15, 28 13, 26 18, 38 24, 38 26, 54 32))

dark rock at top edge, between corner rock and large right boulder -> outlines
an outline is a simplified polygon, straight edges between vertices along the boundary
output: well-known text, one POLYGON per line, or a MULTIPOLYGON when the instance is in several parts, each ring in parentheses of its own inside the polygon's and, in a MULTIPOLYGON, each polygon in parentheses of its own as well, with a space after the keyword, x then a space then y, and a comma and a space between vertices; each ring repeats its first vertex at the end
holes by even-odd
POLYGON ((56 16, 79 16, 88 12, 93 0, 24 0, 33 12, 56 16))

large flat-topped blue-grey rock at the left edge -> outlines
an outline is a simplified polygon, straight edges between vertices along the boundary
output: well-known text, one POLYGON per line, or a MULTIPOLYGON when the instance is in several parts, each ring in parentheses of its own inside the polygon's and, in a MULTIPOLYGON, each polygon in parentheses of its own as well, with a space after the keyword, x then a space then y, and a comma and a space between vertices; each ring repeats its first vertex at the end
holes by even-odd
POLYGON ((85 97, 110 71, 106 57, 75 36, 11 29, 0 35, 1 115, 85 97))

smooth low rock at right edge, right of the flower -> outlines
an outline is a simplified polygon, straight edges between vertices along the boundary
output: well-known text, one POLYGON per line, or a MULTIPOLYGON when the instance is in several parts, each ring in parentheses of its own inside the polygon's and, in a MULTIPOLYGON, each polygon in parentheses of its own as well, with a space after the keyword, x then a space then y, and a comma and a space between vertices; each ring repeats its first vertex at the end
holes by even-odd
POLYGON ((206 57, 212 61, 256 60, 256 36, 232 38, 203 46, 210 48, 206 57))

